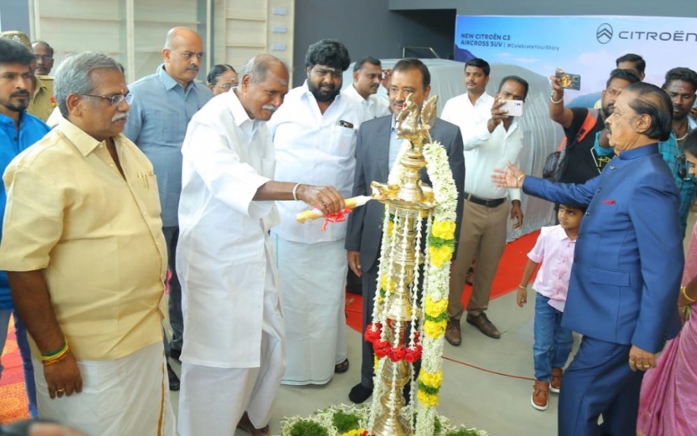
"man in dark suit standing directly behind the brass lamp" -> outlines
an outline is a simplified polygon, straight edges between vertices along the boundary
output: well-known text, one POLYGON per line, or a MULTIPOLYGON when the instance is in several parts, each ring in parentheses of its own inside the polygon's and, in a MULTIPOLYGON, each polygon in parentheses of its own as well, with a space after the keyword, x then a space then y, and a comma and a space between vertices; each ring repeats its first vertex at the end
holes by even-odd
MULTIPOLYGON (((390 77, 390 110, 392 115, 366 121, 358 130, 356 142, 355 181, 353 195, 370 195, 372 181, 385 182, 392 165, 395 164, 401 139, 397 139, 395 114, 404 107, 406 96, 419 107, 429 97, 431 74, 424 63, 418 59, 401 59, 392 68, 390 77)), ((462 218, 462 190, 465 183, 465 161, 462 136, 454 124, 436 119, 431 137, 441 142, 447 151, 452 176, 457 186, 457 220, 462 218)), ((425 172, 425 171, 424 171, 425 172)), ((429 183, 424 179, 426 183, 429 183)), ((382 203, 372 201, 351 213, 348 218, 346 250, 348 266, 362 278, 363 287, 363 332, 372 320, 373 299, 378 277, 378 255, 382 239, 382 223, 385 208, 382 203)), ((459 228, 455 232, 455 240, 459 228)), ((353 403, 363 403, 373 391, 372 344, 362 340, 362 366, 360 383, 353 386, 348 398, 353 403)))

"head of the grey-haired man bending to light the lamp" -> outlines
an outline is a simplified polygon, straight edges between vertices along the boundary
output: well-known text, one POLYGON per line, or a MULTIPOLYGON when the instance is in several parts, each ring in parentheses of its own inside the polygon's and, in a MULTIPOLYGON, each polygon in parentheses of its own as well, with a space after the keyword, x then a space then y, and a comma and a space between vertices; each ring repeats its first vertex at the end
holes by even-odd
POLYGON ((275 56, 257 54, 240 70, 235 93, 250 119, 268 121, 288 93, 288 68, 275 56))

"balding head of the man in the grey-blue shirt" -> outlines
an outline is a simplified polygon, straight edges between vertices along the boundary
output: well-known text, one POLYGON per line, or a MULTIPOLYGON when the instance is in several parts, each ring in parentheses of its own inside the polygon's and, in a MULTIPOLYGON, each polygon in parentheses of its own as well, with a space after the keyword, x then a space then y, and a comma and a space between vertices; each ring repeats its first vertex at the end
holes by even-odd
POLYGON ((204 56, 204 41, 187 27, 173 27, 167 32, 162 49, 164 70, 186 89, 199 74, 204 56))

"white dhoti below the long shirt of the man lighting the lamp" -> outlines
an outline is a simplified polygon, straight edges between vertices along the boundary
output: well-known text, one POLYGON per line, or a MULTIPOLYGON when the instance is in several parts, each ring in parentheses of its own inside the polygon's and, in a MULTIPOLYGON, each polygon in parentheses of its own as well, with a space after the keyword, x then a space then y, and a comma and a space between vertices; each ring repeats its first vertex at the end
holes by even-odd
POLYGON ((254 428, 263 428, 271 419, 273 400, 283 376, 284 326, 273 265, 266 265, 261 366, 216 368, 184 361, 178 413, 181 436, 234 435, 244 412, 254 428))

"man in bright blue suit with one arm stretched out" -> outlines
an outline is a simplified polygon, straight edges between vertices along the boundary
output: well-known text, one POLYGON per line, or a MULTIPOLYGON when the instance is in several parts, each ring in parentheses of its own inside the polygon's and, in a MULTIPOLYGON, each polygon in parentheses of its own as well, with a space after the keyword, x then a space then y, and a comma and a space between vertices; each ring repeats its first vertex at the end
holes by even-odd
POLYGON ((560 436, 634 436, 643 373, 680 329, 680 197, 657 145, 671 134, 672 112, 664 91, 630 84, 605 121, 617 156, 599 176, 552 183, 513 165, 492 176, 552 202, 588 204, 562 316, 583 340, 562 377, 560 436))

